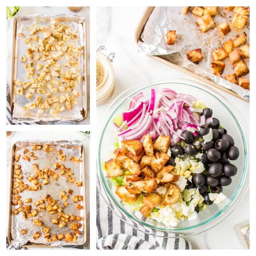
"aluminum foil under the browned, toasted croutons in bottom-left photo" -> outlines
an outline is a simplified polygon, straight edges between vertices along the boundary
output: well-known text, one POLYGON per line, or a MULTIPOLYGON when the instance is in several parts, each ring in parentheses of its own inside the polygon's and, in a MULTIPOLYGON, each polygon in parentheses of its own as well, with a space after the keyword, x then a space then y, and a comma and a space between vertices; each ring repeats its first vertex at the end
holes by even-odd
MULTIPOLYGON (((66 168, 70 168, 71 172, 74 172, 74 175, 72 177, 76 177, 76 180, 81 180, 82 181, 82 163, 83 161, 80 161, 80 163, 70 161, 69 158, 70 156, 75 156, 78 158, 81 158, 81 141, 80 140, 75 140, 75 141, 18 141, 16 142, 16 149, 15 149, 15 154, 20 154, 20 160, 17 163, 15 161, 15 164, 20 164, 21 167, 21 175, 23 178, 21 179, 24 184, 28 184, 29 186, 33 186, 31 182, 29 182, 26 178, 28 176, 34 176, 35 171, 33 170, 32 164, 37 164, 38 169, 43 170, 45 167, 48 167, 49 170, 53 170, 55 172, 59 172, 60 169, 57 169, 56 171, 54 170, 54 164, 56 162, 60 164, 64 164, 66 168), (34 153, 34 156, 37 156, 37 160, 33 160, 32 157, 30 157, 30 161, 27 162, 26 160, 22 159, 23 150, 27 148, 29 152, 31 152, 31 145, 49 145, 49 147, 53 146, 54 150, 52 152, 45 152, 43 150, 43 147, 41 150, 33 150, 32 152, 34 153), (60 161, 60 156, 57 153, 57 150, 61 149, 62 154, 66 155, 66 161, 60 161)), ((28 156, 28 153, 25 155, 28 156)), ((14 179, 15 180, 15 179, 14 179)), ((71 182, 67 181, 67 177, 65 176, 65 173, 63 175, 59 175, 57 180, 52 180, 52 176, 49 177, 49 184, 43 185, 42 184, 42 179, 37 178, 38 183, 41 184, 41 190, 36 190, 36 191, 28 191, 28 190, 23 190, 21 193, 19 193, 20 200, 23 203, 23 207, 25 208, 26 204, 31 205, 31 210, 37 209, 37 215, 35 217, 27 217, 26 220, 23 219, 22 212, 19 212, 17 215, 14 215, 12 213, 12 223, 11 223, 11 237, 12 237, 12 245, 15 248, 19 248, 21 245, 26 244, 27 242, 31 243, 39 243, 39 244, 45 244, 45 245, 51 245, 51 246, 59 246, 59 247, 75 247, 78 245, 83 244, 83 222, 82 221, 74 221, 77 223, 82 223, 82 227, 79 228, 81 235, 77 236, 77 241, 76 243, 70 242, 65 242, 64 239, 61 241, 53 241, 51 243, 47 243, 46 238, 44 238, 44 232, 42 230, 42 227, 38 227, 36 225, 33 225, 33 219, 39 219, 43 222, 43 225, 46 227, 50 228, 49 233, 52 235, 54 234, 65 234, 65 233, 71 233, 73 234, 73 230, 70 229, 70 221, 68 221, 68 224, 63 227, 63 228, 58 228, 58 225, 52 224, 52 219, 56 219, 59 215, 59 213, 56 214, 49 214, 47 210, 45 209, 44 211, 40 211, 38 206, 35 206, 35 202, 38 200, 43 199, 47 194, 49 194, 52 199, 56 200, 56 204, 59 205, 59 207, 62 207, 62 212, 68 215, 75 215, 75 216, 83 216, 83 208, 81 210, 77 210, 75 208, 77 203, 74 203, 72 198, 75 195, 83 195, 83 190, 82 187, 78 187, 71 182), (72 195, 69 195, 67 193, 68 189, 72 189, 73 193, 72 195), (65 191, 65 194, 68 195, 68 206, 64 207, 63 199, 60 198, 60 193, 61 191, 65 191), (32 202, 31 203, 25 203, 25 198, 31 198, 32 202), (21 235, 20 230, 25 229, 26 234, 21 235), (36 240, 33 239, 33 234, 38 231, 40 233, 40 237, 37 238, 36 240)), ((18 188, 16 188, 18 189, 18 188)), ((18 189, 19 190, 19 189, 18 189)), ((13 196, 14 198, 14 196, 13 196)), ((14 199, 13 199, 14 200, 14 199)), ((83 206, 82 201, 78 202, 83 206)), ((41 205, 41 204, 40 204, 41 205)), ((44 202, 45 207, 49 205, 47 201, 44 202)), ((12 205, 12 210, 15 208, 20 207, 20 205, 12 205)))

